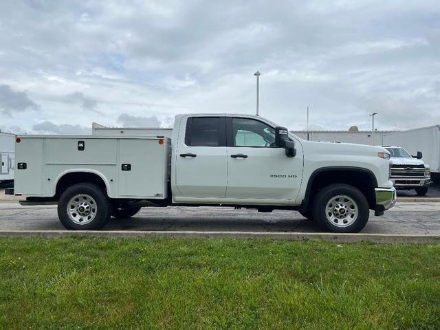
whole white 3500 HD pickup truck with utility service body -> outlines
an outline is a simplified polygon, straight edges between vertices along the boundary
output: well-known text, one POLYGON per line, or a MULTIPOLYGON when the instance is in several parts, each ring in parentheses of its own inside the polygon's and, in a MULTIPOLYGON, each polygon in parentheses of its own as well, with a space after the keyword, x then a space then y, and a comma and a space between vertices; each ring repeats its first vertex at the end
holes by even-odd
POLYGON ((359 232, 395 204, 389 153, 309 142, 255 115, 177 115, 173 137, 17 135, 22 205, 58 203, 70 230, 142 206, 298 210, 329 232, 359 232))

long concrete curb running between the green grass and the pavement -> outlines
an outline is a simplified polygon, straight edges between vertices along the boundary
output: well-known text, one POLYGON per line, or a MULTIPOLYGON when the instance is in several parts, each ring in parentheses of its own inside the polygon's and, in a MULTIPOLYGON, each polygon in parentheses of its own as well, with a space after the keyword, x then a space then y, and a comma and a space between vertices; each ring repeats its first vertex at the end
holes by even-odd
POLYGON ((69 236, 109 238, 173 239, 282 239, 289 241, 332 241, 340 243, 440 243, 439 235, 398 234, 333 234, 319 232, 196 232, 196 231, 103 231, 103 230, 13 230, 0 231, 0 237, 43 237, 56 239, 69 236))

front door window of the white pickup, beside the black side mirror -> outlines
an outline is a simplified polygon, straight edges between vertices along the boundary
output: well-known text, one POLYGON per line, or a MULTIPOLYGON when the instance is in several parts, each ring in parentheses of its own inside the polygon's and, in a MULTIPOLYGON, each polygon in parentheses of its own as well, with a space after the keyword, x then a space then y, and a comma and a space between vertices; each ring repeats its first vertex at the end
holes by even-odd
POLYGON ((275 147, 275 130, 259 120, 232 118, 234 146, 275 147))

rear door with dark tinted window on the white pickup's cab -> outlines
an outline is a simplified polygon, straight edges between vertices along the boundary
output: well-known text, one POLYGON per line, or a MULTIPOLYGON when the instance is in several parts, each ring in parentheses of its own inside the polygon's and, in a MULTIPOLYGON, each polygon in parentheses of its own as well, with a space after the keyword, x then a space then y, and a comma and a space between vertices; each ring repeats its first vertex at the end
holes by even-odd
POLYGON ((179 135, 175 155, 176 187, 184 197, 225 197, 228 180, 225 131, 224 117, 195 116, 186 120, 184 142, 179 135))

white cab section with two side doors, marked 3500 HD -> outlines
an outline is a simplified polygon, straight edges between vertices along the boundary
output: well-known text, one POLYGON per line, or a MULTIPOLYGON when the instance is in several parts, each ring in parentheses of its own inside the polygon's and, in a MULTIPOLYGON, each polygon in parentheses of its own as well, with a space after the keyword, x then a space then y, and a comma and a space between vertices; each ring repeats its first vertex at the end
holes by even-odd
POLYGON ((287 157, 285 148, 276 145, 275 124, 245 115, 183 115, 176 122, 175 202, 296 203, 303 148, 295 141, 296 156, 287 157))

